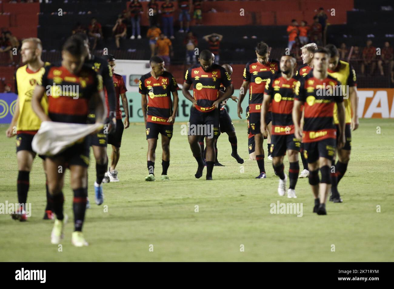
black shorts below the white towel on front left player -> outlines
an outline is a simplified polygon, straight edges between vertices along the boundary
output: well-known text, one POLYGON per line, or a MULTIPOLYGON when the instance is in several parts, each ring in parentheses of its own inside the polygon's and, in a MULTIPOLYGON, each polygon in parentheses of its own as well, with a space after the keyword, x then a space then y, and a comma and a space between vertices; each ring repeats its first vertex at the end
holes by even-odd
POLYGON ((64 158, 67 168, 69 168, 69 166, 83 166, 87 168, 89 166, 89 143, 89 137, 86 137, 84 140, 82 140, 82 142, 76 143, 71 147, 68 147, 57 155, 47 156, 47 158, 64 158))

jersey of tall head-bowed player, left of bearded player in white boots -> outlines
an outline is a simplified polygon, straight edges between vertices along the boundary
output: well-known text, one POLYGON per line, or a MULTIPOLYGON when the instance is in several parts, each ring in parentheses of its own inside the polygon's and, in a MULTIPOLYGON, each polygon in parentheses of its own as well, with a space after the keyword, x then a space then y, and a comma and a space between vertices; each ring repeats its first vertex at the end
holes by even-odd
MULTIPOLYGON (((249 112, 260 112, 266 81, 279 70, 279 61, 270 59, 262 64, 254 59, 243 70, 243 81, 249 81, 249 112), (257 107, 256 107, 257 105, 257 107)), ((269 110, 271 111, 271 105, 269 110)))

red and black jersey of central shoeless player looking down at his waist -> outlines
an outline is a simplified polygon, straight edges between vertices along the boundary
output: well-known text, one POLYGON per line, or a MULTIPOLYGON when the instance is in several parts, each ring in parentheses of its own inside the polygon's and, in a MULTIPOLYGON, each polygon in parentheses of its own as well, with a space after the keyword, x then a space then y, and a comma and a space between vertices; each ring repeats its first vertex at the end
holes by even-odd
POLYGON ((193 84, 193 98, 197 100, 196 109, 201 112, 214 110, 213 103, 219 98, 220 84, 228 87, 232 84, 230 75, 219 64, 212 64, 209 71, 204 71, 201 64, 191 66, 185 75, 185 82, 193 84))

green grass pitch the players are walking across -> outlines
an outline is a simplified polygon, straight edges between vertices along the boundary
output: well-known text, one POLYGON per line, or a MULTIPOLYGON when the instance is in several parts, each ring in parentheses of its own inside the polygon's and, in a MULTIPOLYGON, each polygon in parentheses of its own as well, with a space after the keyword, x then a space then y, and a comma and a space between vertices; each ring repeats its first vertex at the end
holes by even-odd
MULTIPOLYGON (((45 176, 41 159, 35 158, 28 194, 32 217, 20 223, 8 214, 0 214, 0 261, 393 260, 393 120, 360 121, 360 128, 353 132, 348 171, 339 185, 344 202, 329 202, 326 216, 312 213, 313 197, 307 179, 298 180, 297 199, 279 197, 278 178, 267 159, 267 179, 255 179, 258 168, 248 157, 245 120, 234 122, 238 152, 245 159, 243 168, 230 156, 227 134, 222 134, 218 158, 225 167, 215 167, 210 182, 205 180, 206 169, 201 179, 194 178, 197 165, 187 136, 180 134, 180 125, 175 124, 171 140, 170 182, 160 180, 160 145, 156 151, 158 178, 156 182, 145 182, 145 129, 142 123, 132 123, 125 130, 117 168, 120 182, 104 184, 101 206, 94 203, 95 160, 91 153, 91 209, 84 223, 89 247, 71 245, 73 215, 68 171, 63 192, 70 221, 62 250, 50 244, 53 221, 42 219, 45 176), (302 203, 303 216, 270 214, 270 204, 278 200, 302 203), (104 212, 104 205, 108 212, 104 212), (381 212, 377 212, 378 205, 381 212)), ((0 202, 15 203, 15 138, 6 138, 6 128, 0 126, 0 202)), ((284 164, 288 171, 287 158, 284 164)))

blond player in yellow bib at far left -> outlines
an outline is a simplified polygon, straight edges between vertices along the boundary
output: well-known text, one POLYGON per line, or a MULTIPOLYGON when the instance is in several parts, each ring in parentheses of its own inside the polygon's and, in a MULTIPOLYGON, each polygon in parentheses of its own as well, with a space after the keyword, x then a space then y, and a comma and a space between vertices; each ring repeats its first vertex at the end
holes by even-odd
MULTIPOLYGON (((20 53, 24 66, 18 68, 15 74, 15 92, 18 94, 15 113, 11 124, 6 131, 7 137, 17 136, 17 162, 18 162, 18 202, 26 204, 30 186, 30 171, 32 170, 33 160, 36 153, 32 149, 32 140, 41 125, 41 120, 32 109, 32 91, 37 84, 41 84, 41 77, 45 71, 45 65, 41 60, 43 46, 38 38, 28 38, 22 41, 20 53), (15 129, 16 127, 16 129, 15 129)), ((46 98, 42 99, 41 105, 47 109, 46 98)), ((44 157, 40 156, 41 158, 44 157)), ((45 171, 45 160, 43 161, 45 171)), ((46 208, 44 219, 53 219, 52 202, 46 184, 46 208)), ((24 209, 23 209, 24 210, 24 209)), ((26 214, 23 210, 14 212, 13 219, 26 221, 26 214)))

